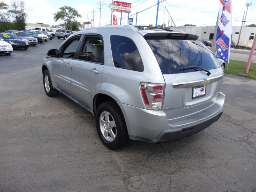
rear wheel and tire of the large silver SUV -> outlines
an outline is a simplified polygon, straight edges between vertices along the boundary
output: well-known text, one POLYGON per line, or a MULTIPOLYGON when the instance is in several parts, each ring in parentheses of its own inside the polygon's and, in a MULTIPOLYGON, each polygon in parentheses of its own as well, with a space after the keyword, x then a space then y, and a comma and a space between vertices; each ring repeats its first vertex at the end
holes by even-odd
POLYGON ((124 116, 116 102, 104 102, 98 106, 96 128, 102 143, 111 150, 120 149, 129 141, 124 116))

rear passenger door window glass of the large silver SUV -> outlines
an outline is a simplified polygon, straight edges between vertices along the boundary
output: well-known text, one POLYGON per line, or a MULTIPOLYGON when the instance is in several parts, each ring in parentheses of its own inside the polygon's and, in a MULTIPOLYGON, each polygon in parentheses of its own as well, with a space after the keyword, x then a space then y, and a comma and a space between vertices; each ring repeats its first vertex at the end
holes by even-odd
POLYGON ((99 36, 86 37, 78 59, 104 63, 103 48, 103 41, 99 36))

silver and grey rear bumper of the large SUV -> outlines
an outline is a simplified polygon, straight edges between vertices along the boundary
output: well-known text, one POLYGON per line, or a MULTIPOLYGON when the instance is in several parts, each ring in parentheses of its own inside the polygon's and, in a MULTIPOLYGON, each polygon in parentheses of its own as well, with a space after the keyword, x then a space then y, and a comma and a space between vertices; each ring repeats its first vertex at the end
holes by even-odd
POLYGON ((225 95, 219 93, 216 102, 203 111, 167 120, 160 110, 146 110, 118 103, 126 120, 129 138, 149 143, 180 140, 204 130, 223 113, 225 95))

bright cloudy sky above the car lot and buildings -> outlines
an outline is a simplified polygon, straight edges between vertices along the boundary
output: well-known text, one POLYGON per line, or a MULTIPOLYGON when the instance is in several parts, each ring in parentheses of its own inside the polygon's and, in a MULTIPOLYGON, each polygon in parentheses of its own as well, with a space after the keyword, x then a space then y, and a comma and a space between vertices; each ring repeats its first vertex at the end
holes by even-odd
MULTIPOLYGON (((2 0, 0 0, 2 1, 2 0)), ((10 5, 10 0, 3 0, 10 5)), ((136 12, 140 12, 157 4, 157 0, 119 0, 121 2, 132 3, 131 18, 134 18, 134 25, 136 22, 136 12)), ((161 0, 160 0, 161 1, 161 0)), ((99 0, 24 0, 25 10, 28 14, 28 23, 41 22, 44 24, 60 24, 63 21, 55 22, 53 14, 56 13, 61 6, 72 6, 82 18, 77 18, 79 22, 91 21, 94 11, 94 26, 110 24, 111 10, 108 7, 112 0, 101 1, 101 21, 100 21, 100 2, 99 0)), ((241 26, 244 11, 246 12, 246 3, 251 3, 248 7, 246 16, 246 24, 256 24, 256 2, 255 0, 232 0, 232 22, 233 26, 241 26)), ((176 26, 184 24, 194 24, 196 26, 214 26, 219 9, 219 0, 166 0, 159 5, 158 22, 157 25, 168 25, 169 11, 176 26)), ((156 24, 157 6, 150 8, 144 12, 138 13, 137 25, 156 24)), ((113 12, 118 18, 120 24, 120 12, 113 12)), ((122 24, 127 24, 127 13, 122 14, 122 24), (126 17, 126 18, 125 18, 126 17)), ((171 20, 169 25, 171 25, 171 20)))

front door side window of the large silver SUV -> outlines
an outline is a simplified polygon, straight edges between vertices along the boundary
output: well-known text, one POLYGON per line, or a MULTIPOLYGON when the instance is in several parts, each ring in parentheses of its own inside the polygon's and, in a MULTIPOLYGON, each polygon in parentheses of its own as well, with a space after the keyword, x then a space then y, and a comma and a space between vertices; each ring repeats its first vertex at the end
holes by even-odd
POLYGON ((74 58, 81 36, 76 36, 64 44, 61 57, 74 58))

